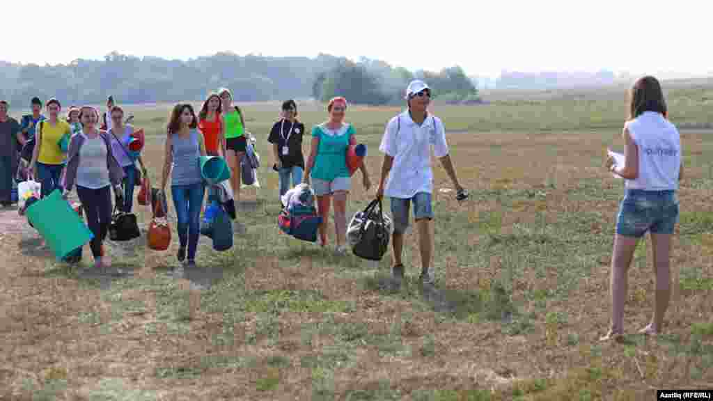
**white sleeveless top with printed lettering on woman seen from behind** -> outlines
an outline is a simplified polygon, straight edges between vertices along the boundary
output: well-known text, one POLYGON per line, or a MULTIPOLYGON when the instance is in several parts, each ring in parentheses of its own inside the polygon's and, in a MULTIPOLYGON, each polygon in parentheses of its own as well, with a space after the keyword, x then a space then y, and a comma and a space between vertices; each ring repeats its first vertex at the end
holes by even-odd
POLYGON ((678 189, 681 168, 681 138, 676 126, 661 113, 645 111, 625 124, 638 147, 639 176, 627 180, 626 188, 645 191, 678 189))

